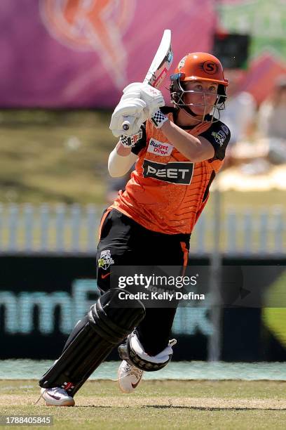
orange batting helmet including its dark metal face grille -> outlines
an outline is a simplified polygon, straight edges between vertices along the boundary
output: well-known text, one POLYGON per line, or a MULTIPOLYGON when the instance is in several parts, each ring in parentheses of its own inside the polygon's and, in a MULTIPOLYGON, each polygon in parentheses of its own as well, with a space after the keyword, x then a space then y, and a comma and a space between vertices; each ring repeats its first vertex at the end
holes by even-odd
MULTIPOLYGON (((212 54, 205 52, 193 52, 184 56, 177 65, 175 74, 170 76, 170 94, 171 102, 177 108, 183 109, 186 113, 192 117, 197 117, 192 110, 191 104, 186 105, 184 102, 184 94, 193 91, 186 91, 184 82, 189 81, 206 81, 214 82, 218 84, 217 87, 217 100, 214 105, 210 105, 213 110, 211 121, 218 120, 214 119, 214 114, 224 109, 224 102, 226 100, 226 86, 229 85, 227 79, 224 79, 224 69, 222 63, 217 57, 212 54)), ((207 105, 205 105, 207 107, 207 105)), ((207 117, 203 115, 203 119, 200 122, 208 121, 207 117)))

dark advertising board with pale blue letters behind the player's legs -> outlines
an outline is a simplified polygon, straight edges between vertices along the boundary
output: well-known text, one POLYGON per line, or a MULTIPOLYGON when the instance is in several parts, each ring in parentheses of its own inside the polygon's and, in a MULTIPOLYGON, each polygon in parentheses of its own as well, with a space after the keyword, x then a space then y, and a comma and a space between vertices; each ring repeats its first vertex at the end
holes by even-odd
MULTIPOLYGON (((222 285, 227 288, 222 290, 223 298, 234 305, 222 311, 222 360, 285 360, 285 346, 269 329, 271 320, 269 327, 263 322, 261 306, 236 306, 242 293, 249 293, 247 299, 280 279, 285 262, 267 267, 253 261, 256 266, 250 271, 239 261, 224 263, 222 285), (260 278, 255 280, 254 273, 261 273, 260 278), (234 285, 235 278, 244 282, 243 289, 236 288, 240 283, 234 285)), ((192 268, 201 266, 207 278, 206 259, 192 256, 191 264, 192 268)), ((57 358, 69 332, 99 296, 95 256, 1 256, 0 269, 0 359, 57 358)), ((274 294, 275 284, 271 288, 274 294)), ((250 304, 259 297, 254 296, 250 304)), ((178 308, 172 327, 178 340, 173 360, 205 360, 213 332, 210 301, 178 308)), ((118 360, 116 348, 109 359, 118 360)))

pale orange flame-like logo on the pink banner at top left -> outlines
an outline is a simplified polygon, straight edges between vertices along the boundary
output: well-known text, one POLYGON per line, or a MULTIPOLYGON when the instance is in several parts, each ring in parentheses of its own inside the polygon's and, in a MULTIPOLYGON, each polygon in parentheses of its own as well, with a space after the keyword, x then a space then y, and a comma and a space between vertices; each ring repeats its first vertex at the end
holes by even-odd
POLYGON ((48 32, 70 48, 95 51, 118 88, 125 84, 126 51, 122 36, 136 0, 40 0, 48 32))

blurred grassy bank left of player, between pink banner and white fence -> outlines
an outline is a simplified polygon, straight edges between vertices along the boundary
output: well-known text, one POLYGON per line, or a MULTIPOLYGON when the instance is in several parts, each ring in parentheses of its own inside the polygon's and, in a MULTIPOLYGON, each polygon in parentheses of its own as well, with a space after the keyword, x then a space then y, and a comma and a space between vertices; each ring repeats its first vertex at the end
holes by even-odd
POLYGON ((110 113, 4 111, 0 120, 1 202, 104 201, 110 113))

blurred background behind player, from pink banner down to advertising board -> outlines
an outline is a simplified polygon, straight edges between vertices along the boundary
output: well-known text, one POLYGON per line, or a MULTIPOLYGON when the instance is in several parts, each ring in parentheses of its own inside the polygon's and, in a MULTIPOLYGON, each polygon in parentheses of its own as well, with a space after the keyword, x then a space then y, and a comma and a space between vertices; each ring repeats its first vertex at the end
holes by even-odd
POLYGON ((56 358, 95 301, 100 216, 124 188, 111 112, 170 28, 170 73, 222 61, 232 133, 191 239, 210 297, 177 312, 174 360, 286 360, 285 1, 1 0, 0 22, 0 358, 56 358))

